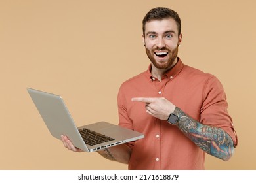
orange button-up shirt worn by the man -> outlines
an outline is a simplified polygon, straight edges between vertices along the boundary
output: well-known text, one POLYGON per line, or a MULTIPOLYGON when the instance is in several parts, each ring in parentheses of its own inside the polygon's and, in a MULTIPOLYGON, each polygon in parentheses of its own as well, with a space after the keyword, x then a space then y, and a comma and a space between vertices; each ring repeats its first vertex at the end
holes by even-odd
POLYGON ((144 133, 128 143, 129 169, 204 169, 205 152, 176 125, 146 113, 145 104, 133 97, 165 97, 188 116, 205 125, 221 127, 236 144, 232 118, 223 86, 210 74, 184 65, 179 59, 161 82, 147 71, 124 82, 118 93, 119 125, 144 133))

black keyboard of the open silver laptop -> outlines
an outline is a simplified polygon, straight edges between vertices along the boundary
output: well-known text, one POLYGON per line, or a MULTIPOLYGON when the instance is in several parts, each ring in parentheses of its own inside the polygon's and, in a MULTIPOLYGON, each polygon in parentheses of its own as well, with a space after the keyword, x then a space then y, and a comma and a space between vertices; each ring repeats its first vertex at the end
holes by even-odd
POLYGON ((115 140, 112 139, 111 137, 107 137, 105 135, 96 133, 95 131, 91 131, 85 128, 79 129, 79 133, 83 137, 83 141, 85 141, 85 144, 89 144, 90 146, 115 140))

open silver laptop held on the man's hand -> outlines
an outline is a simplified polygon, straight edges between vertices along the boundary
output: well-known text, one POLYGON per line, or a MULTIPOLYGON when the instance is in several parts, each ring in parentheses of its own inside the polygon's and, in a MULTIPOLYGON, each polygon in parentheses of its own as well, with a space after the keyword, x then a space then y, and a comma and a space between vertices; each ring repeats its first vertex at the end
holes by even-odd
POLYGON ((61 140, 66 135, 76 148, 95 152, 110 146, 137 141, 144 134, 108 122, 77 127, 60 95, 27 88, 51 135, 61 140))

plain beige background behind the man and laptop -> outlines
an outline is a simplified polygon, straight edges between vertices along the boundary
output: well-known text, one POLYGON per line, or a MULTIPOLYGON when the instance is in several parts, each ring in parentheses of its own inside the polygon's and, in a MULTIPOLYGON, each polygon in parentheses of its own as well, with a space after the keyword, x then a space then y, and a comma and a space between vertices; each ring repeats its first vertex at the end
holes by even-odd
POLYGON ((77 125, 117 124, 120 84, 150 63, 142 18, 158 6, 181 16, 182 61, 217 76, 228 96, 239 145, 228 162, 207 155, 206 169, 256 169, 255 2, 0 0, 0 169, 127 169, 64 149, 26 88, 62 95, 77 125))

